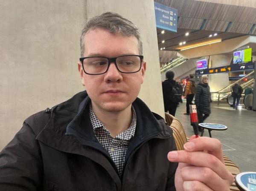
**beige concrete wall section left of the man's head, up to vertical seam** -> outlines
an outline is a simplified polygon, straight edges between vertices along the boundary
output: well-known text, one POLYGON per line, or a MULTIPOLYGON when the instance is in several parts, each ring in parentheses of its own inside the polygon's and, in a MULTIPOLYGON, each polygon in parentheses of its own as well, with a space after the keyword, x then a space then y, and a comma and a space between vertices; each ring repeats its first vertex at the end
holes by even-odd
POLYGON ((0 150, 35 112, 82 91, 84 0, 0 0, 0 150))

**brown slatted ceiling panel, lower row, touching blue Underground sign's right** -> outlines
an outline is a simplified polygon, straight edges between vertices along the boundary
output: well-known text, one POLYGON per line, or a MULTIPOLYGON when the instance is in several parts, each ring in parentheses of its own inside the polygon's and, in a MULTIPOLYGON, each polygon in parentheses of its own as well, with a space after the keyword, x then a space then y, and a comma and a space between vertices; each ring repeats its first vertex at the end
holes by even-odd
POLYGON ((204 21, 204 19, 180 17, 179 20, 178 20, 178 28, 199 30, 203 21, 204 21))

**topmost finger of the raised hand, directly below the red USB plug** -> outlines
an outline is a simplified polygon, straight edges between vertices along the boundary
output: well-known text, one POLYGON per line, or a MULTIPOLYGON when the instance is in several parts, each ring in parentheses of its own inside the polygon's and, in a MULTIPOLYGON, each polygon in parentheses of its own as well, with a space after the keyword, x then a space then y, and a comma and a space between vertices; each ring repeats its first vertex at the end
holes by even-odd
POLYGON ((198 137, 195 139, 195 136, 192 136, 192 140, 184 144, 184 149, 189 152, 206 150, 224 163, 221 142, 218 139, 210 137, 198 137))

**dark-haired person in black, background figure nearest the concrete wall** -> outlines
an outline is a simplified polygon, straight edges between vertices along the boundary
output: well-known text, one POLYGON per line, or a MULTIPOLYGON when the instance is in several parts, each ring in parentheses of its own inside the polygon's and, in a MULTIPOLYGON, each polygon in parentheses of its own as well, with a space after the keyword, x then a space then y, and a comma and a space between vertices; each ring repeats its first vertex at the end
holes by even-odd
POLYGON ((162 83, 164 111, 169 111, 169 114, 175 116, 178 103, 181 101, 181 93, 179 92, 180 88, 178 87, 178 83, 173 80, 173 71, 167 71, 166 78, 167 79, 162 83), (173 90, 173 88, 175 88, 175 90, 173 90), (176 91, 176 95, 174 95, 173 91, 176 91))

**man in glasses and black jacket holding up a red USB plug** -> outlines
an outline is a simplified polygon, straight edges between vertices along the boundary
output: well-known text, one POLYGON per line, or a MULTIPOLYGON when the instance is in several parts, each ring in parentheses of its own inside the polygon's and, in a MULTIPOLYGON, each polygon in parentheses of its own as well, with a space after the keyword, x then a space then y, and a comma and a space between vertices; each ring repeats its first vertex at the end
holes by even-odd
POLYGON ((0 153, 0 190, 229 190, 218 140, 192 137, 173 151, 171 129, 137 98, 145 69, 134 24, 93 17, 78 63, 87 92, 25 120, 0 153))

